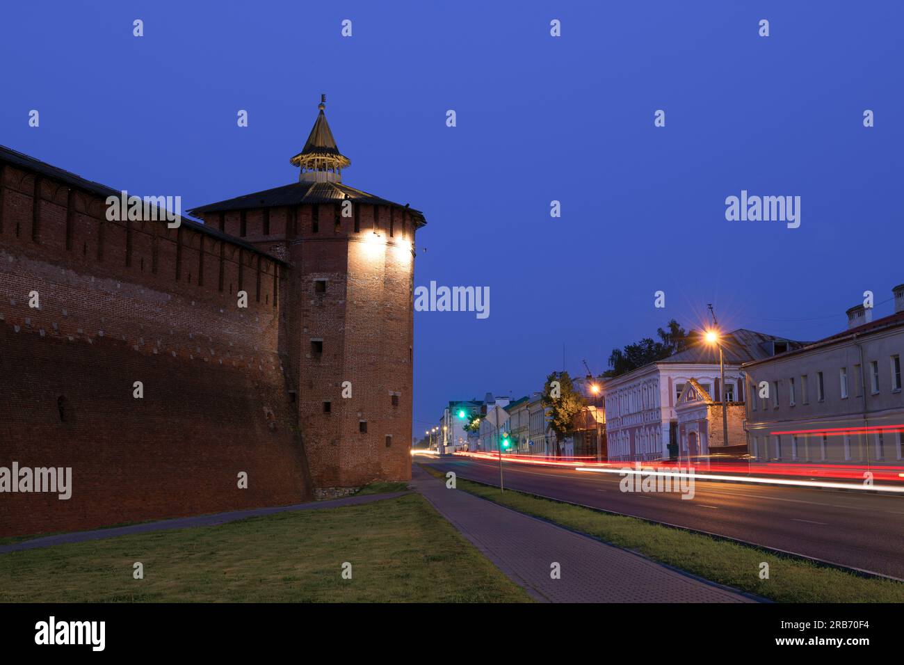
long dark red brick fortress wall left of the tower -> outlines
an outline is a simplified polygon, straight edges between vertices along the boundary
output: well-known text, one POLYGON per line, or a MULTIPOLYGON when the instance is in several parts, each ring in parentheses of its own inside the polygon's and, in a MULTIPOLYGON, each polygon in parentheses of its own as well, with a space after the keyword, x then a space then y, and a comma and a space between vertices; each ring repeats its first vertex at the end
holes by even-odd
POLYGON ((309 499, 287 266, 0 166, 0 466, 72 468, 69 500, 0 495, 0 537, 309 499))

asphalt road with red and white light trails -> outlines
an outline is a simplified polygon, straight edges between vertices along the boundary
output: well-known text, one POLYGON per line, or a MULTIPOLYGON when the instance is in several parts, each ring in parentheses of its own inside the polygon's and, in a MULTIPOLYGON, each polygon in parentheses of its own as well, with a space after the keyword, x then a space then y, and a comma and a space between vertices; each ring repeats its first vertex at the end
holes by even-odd
MULTIPOLYGON (((499 485, 495 461, 417 458, 499 485)), ((904 497, 695 480, 678 493, 622 492, 617 474, 507 463, 505 487, 689 527, 904 579, 904 497)))

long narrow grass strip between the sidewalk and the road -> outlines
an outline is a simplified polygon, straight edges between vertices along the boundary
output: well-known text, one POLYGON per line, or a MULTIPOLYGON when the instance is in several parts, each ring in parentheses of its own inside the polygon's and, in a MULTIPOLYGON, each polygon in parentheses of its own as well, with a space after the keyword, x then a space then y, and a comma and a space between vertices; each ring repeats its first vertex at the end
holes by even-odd
MULTIPOLYGON (((422 465, 422 468, 439 478, 446 477, 445 473, 428 465, 422 465)), ((497 487, 471 480, 458 478, 457 489, 777 602, 904 603, 904 584, 892 580, 860 577, 777 556, 758 547, 655 525, 642 519, 608 515, 510 489, 500 492, 497 487), (759 565, 764 561, 769 565, 767 580, 759 579, 759 565)))

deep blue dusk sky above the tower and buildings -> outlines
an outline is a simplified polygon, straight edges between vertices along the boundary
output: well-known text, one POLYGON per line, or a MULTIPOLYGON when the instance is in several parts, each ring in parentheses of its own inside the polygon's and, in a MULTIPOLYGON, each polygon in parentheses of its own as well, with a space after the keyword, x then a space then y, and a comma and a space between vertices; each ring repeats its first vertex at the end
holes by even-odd
POLYGON ((904 282, 904 3, 118 0, 3 14, 0 144, 184 208, 293 182, 288 159, 326 93, 353 161, 344 182, 427 216, 415 284, 490 288, 489 318, 416 314, 415 432, 449 399, 540 390, 563 347, 572 375, 584 358, 599 373, 669 318, 699 327, 707 303, 725 328, 817 339, 864 290, 890 313, 904 282), (727 221, 741 190, 800 196, 800 227, 727 221))

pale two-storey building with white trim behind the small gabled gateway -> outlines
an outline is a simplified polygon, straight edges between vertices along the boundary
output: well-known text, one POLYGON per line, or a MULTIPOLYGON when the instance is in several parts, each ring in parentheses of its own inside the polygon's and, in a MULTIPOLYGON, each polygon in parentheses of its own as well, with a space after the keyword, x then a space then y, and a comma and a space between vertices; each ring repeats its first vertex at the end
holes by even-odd
MULTIPOLYGON (((730 404, 744 401, 742 364, 804 345, 744 328, 722 336, 720 344, 724 348, 725 390, 730 404)), ((695 379, 707 394, 721 394, 718 347, 701 343, 607 379, 603 392, 608 459, 648 461, 677 456, 679 437, 675 405, 691 379, 695 379)), ((709 425, 702 430, 705 438, 698 442, 701 451, 709 451, 712 429, 709 425)))

